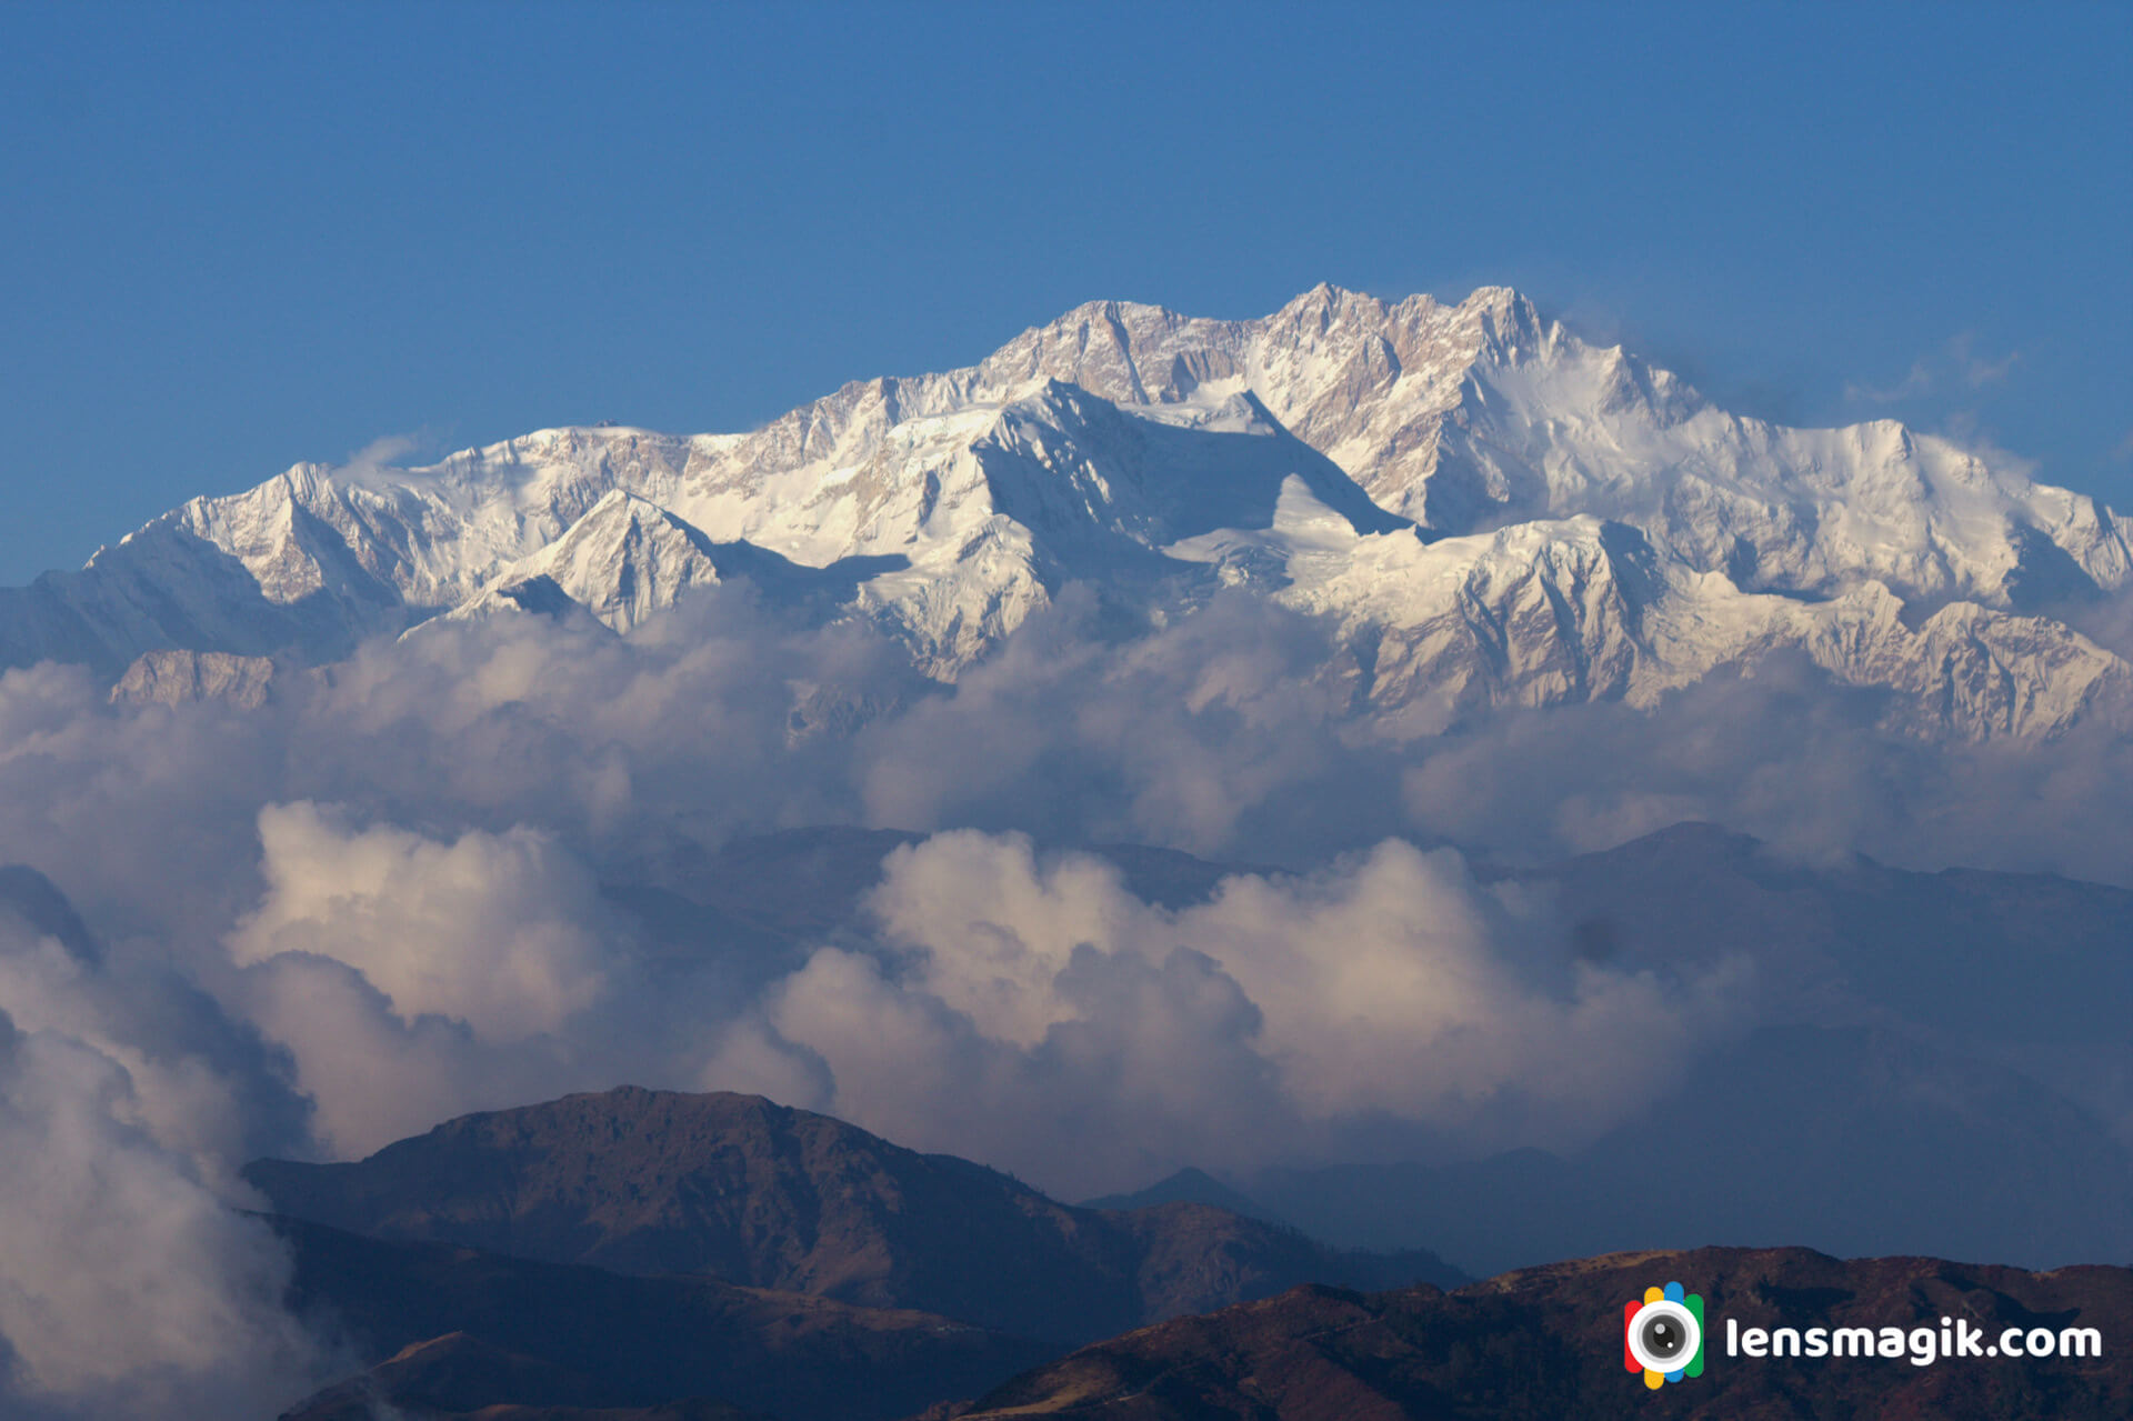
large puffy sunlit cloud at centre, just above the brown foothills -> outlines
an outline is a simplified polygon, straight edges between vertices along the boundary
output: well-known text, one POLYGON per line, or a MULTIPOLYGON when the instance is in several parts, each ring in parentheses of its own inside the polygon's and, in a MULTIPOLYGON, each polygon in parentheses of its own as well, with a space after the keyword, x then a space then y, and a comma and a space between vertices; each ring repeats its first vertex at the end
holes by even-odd
POLYGON ((706 1086, 1096 1193, 1186 1161, 1570 1146, 1672 1086, 1751 994, 1570 962, 1538 905, 1386 841, 1169 911, 1022 834, 898 849, 879 949, 821 947, 706 1086))

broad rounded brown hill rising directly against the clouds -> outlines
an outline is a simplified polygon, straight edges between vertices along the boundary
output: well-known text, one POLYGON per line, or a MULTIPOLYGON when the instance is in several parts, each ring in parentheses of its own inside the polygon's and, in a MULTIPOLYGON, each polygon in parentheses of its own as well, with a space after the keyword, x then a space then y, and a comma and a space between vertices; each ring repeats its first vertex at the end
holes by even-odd
MULTIPOLYGON (((625 1274, 702 1274, 1086 1342, 1295 1282, 1459 1282, 1199 1203, 1098 1212, 747 1095, 625 1086, 450 1120, 346 1165, 256 1161, 279 1214, 625 1274)), ((446 1331, 448 1327, 439 1327, 446 1331)))

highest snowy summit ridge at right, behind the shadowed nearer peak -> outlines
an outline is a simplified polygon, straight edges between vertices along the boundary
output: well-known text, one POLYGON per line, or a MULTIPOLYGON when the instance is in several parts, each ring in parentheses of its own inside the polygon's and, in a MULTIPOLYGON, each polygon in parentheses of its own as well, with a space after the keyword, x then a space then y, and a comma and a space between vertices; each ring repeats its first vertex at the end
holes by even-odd
POLYGON ((1457 305, 1316 286, 1261 320, 1092 303, 1026 331, 979 388, 1045 373, 1124 405, 1250 390, 1382 510, 1433 533, 1593 514, 1792 595, 1886 582, 2037 606, 2133 580, 2107 510, 1892 422, 1785 429, 1711 405, 1506 286, 1457 305))

